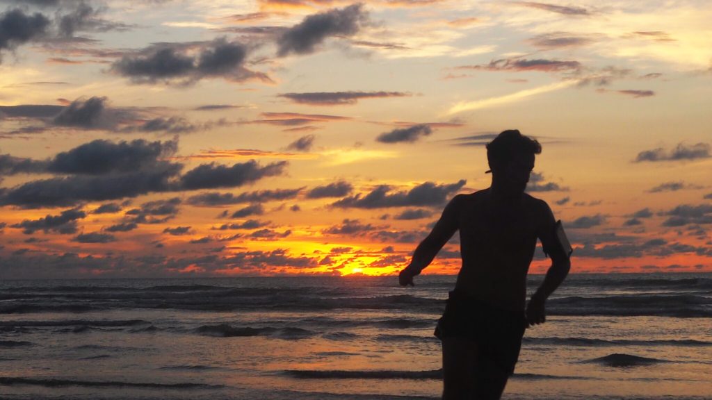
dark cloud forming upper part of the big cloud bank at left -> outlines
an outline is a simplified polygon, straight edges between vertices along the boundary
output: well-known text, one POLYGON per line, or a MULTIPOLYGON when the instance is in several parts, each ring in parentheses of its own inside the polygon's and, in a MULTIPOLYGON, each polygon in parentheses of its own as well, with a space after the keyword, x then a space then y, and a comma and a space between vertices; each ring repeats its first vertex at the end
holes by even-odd
POLYGON ((178 143, 148 142, 137 139, 132 142, 93 140, 68 152, 57 154, 48 164, 47 171, 58 174, 103 175, 113 172, 148 170, 165 164, 161 159, 177 152, 178 143))

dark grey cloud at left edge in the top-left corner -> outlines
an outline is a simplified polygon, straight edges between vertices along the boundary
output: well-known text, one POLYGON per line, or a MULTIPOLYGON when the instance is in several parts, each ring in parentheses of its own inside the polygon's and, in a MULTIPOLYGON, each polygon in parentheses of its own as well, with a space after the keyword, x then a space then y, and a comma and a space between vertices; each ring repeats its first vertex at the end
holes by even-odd
MULTIPOLYGON (((49 26, 50 20, 42 14, 29 15, 21 9, 5 11, 0 14, 0 52, 45 36, 49 26)), ((0 62, 1 56, 0 53, 0 62)))

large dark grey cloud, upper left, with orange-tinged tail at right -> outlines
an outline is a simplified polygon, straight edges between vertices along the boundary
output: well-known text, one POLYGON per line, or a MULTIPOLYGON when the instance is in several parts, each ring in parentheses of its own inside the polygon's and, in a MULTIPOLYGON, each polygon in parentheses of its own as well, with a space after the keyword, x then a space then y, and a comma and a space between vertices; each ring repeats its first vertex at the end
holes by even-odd
POLYGON ((111 65, 118 75, 134 83, 189 85, 204 78, 241 82, 251 78, 269 80, 244 67, 248 48, 226 38, 201 43, 159 43, 111 65), (197 50, 197 53, 196 53, 197 50))

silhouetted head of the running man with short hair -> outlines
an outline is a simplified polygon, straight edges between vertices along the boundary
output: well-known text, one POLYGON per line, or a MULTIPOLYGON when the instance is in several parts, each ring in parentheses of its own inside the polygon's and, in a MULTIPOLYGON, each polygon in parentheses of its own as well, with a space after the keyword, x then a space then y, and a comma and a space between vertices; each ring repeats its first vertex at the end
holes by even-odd
MULTIPOLYGON (((506 130, 487 144, 487 162, 503 189, 523 192, 541 144, 518 130, 506 130)), ((489 171, 488 171, 489 172, 489 171)))

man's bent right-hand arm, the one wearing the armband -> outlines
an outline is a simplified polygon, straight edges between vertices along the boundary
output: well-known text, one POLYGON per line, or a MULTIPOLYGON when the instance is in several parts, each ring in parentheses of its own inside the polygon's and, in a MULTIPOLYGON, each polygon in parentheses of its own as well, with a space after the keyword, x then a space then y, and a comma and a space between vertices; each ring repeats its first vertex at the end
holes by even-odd
POLYGON ((527 305, 527 321, 529 325, 545 322, 545 302, 554 290, 561 285, 571 268, 569 254, 556 237, 556 221, 548 204, 543 203, 543 223, 540 225, 539 238, 545 253, 551 257, 551 266, 544 281, 532 295, 527 305))

